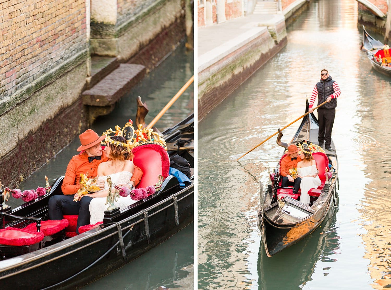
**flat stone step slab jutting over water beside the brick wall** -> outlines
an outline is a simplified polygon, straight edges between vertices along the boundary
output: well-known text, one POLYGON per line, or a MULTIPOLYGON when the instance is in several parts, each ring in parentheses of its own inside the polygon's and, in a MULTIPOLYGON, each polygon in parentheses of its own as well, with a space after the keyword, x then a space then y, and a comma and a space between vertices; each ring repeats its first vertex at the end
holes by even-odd
POLYGON ((122 98, 145 75, 141 64, 120 64, 92 89, 82 94, 83 104, 106 107, 122 98))

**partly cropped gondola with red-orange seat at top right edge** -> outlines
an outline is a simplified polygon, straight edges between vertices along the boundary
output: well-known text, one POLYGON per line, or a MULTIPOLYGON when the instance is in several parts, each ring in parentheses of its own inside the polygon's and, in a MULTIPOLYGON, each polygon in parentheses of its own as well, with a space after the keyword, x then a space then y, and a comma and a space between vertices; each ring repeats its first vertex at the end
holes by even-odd
POLYGON ((385 47, 384 44, 370 36, 365 30, 364 25, 362 26, 362 30, 362 50, 367 53, 372 67, 384 75, 391 76, 391 63, 388 63, 390 60, 390 50, 383 49, 385 47), (381 63, 378 61, 379 55, 382 57, 381 63))

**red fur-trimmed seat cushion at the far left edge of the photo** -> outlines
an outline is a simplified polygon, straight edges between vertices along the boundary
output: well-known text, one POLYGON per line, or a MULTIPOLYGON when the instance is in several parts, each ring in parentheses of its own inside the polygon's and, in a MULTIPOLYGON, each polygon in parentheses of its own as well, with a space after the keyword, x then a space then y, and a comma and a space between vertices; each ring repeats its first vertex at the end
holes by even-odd
POLYGON ((26 231, 18 228, 0 230, 0 244, 7 246, 31 246, 43 240, 41 232, 26 231))

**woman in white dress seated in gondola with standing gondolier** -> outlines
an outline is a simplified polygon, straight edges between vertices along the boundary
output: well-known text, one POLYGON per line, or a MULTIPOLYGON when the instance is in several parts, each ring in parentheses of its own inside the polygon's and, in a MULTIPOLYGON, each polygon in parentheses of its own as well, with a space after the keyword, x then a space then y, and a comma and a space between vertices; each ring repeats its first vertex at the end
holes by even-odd
POLYGON ((312 157, 310 149, 303 148, 302 153, 300 154, 300 158, 303 161, 298 162, 298 177, 301 178, 300 182, 300 202, 305 205, 309 205, 310 196, 308 195, 308 190, 312 188, 317 188, 321 185, 321 181, 319 179, 318 170, 316 168, 316 162, 312 157))

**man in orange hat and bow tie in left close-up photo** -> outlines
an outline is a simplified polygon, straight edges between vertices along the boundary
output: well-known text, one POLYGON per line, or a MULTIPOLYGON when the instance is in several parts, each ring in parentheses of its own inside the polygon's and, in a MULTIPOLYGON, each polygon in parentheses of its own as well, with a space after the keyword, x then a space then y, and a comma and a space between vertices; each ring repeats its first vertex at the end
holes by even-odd
MULTIPOLYGON (((97 176, 98 165, 106 162, 109 158, 106 152, 102 150, 100 142, 106 136, 100 136, 94 130, 88 129, 79 135, 81 146, 70 160, 61 185, 64 195, 55 195, 49 199, 49 218, 51 220, 63 219, 63 215, 79 215, 77 217, 76 233, 79 233, 79 227, 90 223, 90 202, 92 197, 84 196, 79 201, 74 201, 74 194, 80 189, 80 174, 86 174, 89 178, 97 176)), ((140 182, 142 171, 135 166, 135 171, 129 182, 130 186, 135 186, 140 182)), ((104 181, 98 186, 103 189, 104 181)))

